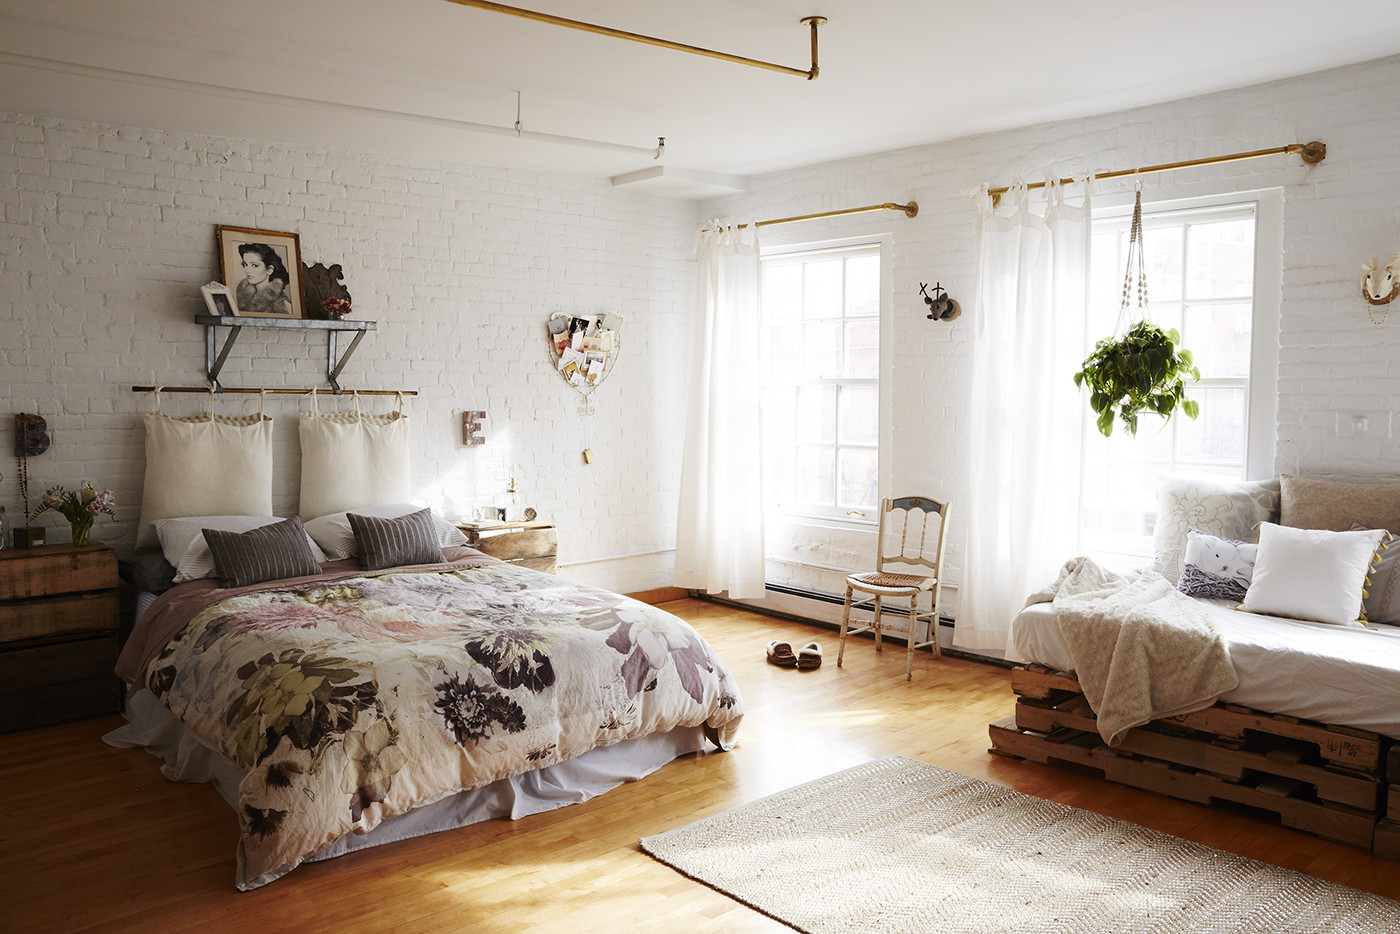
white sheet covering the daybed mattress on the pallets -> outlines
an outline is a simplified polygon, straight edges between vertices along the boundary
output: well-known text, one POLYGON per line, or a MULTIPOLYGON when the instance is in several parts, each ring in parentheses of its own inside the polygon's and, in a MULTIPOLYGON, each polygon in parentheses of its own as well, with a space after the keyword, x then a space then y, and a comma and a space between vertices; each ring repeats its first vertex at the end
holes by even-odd
MULTIPOLYGON (((1239 676, 1222 702, 1400 739, 1400 627, 1331 626, 1198 602, 1219 626, 1239 676)), ((1051 604, 1012 620, 1007 658, 1075 669, 1051 604)))

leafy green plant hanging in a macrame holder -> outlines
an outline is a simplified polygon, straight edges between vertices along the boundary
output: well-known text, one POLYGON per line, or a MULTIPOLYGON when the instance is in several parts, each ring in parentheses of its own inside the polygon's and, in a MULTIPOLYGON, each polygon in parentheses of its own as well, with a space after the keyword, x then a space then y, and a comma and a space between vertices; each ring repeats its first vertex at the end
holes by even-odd
POLYGON ((1128 265, 1123 272, 1123 304, 1113 335, 1096 343, 1093 353, 1084 360, 1084 368, 1074 374, 1074 385, 1089 389, 1089 407, 1098 416, 1099 431, 1105 437, 1113 434, 1114 419, 1123 421, 1128 434, 1137 434, 1137 417, 1141 412, 1159 414, 1168 420, 1177 409, 1189 419, 1200 414, 1200 405, 1186 398, 1186 377, 1201 378, 1196 358, 1190 350, 1180 346, 1182 335, 1175 328, 1162 330, 1148 318, 1141 190, 1133 204, 1128 265), (1142 311, 1142 319, 1123 337, 1114 337, 1128 309, 1134 265, 1137 265, 1138 308, 1142 311))

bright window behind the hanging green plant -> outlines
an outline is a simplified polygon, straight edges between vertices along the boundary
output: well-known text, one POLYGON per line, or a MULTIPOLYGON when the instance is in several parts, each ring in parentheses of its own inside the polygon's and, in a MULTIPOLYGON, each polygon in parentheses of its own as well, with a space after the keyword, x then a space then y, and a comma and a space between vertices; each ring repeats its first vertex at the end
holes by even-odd
MULTIPOLYGON (((1114 426, 1105 438, 1085 419, 1079 546, 1110 563, 1152 555, 1156 480, 1191 475, 1224 482, 1273 473, 1277 368, 1275 200, 1144 210, 1152 321, 1176 328, 1201 379, 1187 384, 1200 419, 1147 416, 1137 435, 1114 426), (1261 462, 1263 461, 1263 462, 1261 462)), ((1109 335, 1123 297, 1127 214, 1096 217, 1085 354, 1109 335)), ((1135 295, 1134 295, 1135 302, 1135 295)), ((1121 329, 1138 319, 1135 304, 1121 329)), ((1085 405, 1088 412, 1088 405, 1085 405)))

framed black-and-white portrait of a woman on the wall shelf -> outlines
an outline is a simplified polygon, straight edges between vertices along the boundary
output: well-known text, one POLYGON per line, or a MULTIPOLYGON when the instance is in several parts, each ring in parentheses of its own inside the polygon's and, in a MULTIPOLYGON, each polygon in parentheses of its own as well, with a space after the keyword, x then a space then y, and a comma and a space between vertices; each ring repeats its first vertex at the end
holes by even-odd
POLYGON ((218 224, 218 276, 245 318, 305 318, 297 234, 218 224))

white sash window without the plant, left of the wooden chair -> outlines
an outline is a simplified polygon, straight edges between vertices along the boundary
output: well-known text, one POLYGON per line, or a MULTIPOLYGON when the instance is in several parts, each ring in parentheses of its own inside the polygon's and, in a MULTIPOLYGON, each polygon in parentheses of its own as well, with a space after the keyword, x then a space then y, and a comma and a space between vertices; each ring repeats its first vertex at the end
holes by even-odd
POLYGON ((770 508, 874 520, 879 335, 879 245, 763 259, 763 456, 770 508))

